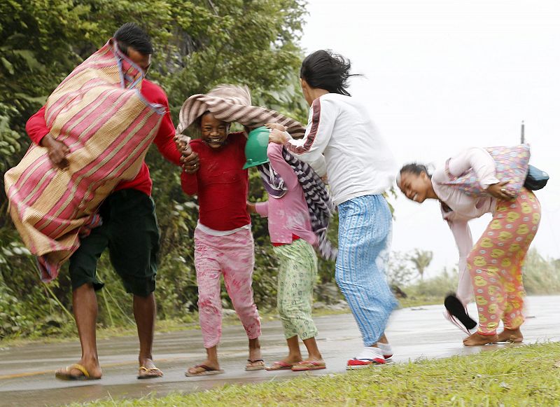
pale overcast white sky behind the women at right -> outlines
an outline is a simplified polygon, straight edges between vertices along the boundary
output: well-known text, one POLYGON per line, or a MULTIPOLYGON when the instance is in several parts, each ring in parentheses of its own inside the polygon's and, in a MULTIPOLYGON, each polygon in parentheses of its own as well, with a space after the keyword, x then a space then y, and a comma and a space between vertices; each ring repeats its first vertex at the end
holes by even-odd
MULTIPOLYGON (((537 195, 533 247, 560 257, 560 1, 309 0, 302 46, 349 57, 349 89, 369 108, 399 164, 440 165, 468 146, 518 144, 551 180, 537 195)), ((434 252, 430 274, 457 251, 436 202, 399 193, 393 249, 434 252)), ((489 215, 471 221, 477 239, 489 215)))

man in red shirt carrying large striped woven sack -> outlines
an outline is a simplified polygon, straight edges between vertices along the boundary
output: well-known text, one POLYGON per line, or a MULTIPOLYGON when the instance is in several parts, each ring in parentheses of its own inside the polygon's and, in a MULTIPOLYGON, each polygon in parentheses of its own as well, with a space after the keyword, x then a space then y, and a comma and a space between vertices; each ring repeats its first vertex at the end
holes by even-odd
POLYGON ((153 47, 133 23, 58 86, 26 130, 34 142, 22 163, 6 173, 11 215, 38 256, 42 280, 57 277, 69 259, 82 357, 59 369, 62 380, 102 377, 95 327, 104 284, 97 261, 111 263, 134 297, 140 341, 138 378, 162 376, 152 360, 155 274, 160 230, 144 157, 151 143, 179 165, 165 92, 144 76, 153 47))

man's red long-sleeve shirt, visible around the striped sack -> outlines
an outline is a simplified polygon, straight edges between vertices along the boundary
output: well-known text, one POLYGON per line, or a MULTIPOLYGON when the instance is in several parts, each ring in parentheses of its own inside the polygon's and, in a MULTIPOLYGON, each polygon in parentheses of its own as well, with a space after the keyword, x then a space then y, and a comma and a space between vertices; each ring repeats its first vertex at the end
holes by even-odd
MULTIPOLYGON (((165 116, 163 116, 160 129, 158 134, 155 136, 153 142, 158 146, 158 150, 162 153, 162 156, 167 158, 171 163, 179 165, 179 158, 181 158, 181 153, 177 150, 174 142, 175 137, 175 127, 171 120, 171 115, 169 114, 169 103, 167 102, 167 95, 162 88, 160 88, 155 83, 144 79, 142 81, 141 95, 151 103, 162 104, 166 108, 165 116)), ((41 140, 48 134, 49 129, 45 123, 45 106, 41 107, 37 113, 35 113, 25 125, 25 130, 29 135, 31 141, 35 144, 41 144, 41 140)), ((136 189, 146 193, 146 195, 151 195, 152 193, 152 179, 150 178, 150 170, 146 163, 142 163, 142 167, 137 177, 131 181, 122 181, 115 188, 115 191, 120 189, 136 189)))

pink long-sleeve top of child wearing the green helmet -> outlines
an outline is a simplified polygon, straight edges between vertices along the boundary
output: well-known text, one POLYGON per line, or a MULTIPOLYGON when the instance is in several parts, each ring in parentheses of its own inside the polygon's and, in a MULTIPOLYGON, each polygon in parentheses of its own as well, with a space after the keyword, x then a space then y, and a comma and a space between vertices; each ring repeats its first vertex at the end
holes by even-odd
POLYGON ((300 182, 295 172, 282 157, 282 146, 270 143, 267 156, 272 169, 282 177, 288 191, 281 198, 269 198, 258 202, 255 209, 262 217, 268 218, 268 232, 272 243, 290 244, 293 235, 316 244, 317 237, 311 229, 309 209, 300 182))

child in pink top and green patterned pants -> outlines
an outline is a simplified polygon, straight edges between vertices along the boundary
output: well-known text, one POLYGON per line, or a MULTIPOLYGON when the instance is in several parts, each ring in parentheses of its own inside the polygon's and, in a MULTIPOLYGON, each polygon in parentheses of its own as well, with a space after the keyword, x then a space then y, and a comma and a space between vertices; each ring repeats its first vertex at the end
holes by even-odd
MULTIPOLYGON (((251 134, 248 145, 251 145, 251 134)), ((266 142, 263 143, 266 147, 266 142)), ((317 256, 314 245, 317 237, 311 229, 309 209, 304 192, 294 170, 282 157, 282 146, 271 143, 262 160, 252 160, 269 165, 281 179, 286 190, 283 195, 267 202, 248 202, 248 212, 268 218, 270 240, 279 262, 277 307, 288 343, 288 356, 275 361, 267 370, 309 371, 325 368, 325 361, 318 350, 315 336, 317 328, 311 319, 313 287, 317 279, 317 256), (301 339, 309 357, 302 360, 301 339)), ((249 161, 250 151, 245 151, 249 161)), ((247 164, 248 165, 248 164, 247 164)))

